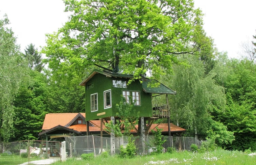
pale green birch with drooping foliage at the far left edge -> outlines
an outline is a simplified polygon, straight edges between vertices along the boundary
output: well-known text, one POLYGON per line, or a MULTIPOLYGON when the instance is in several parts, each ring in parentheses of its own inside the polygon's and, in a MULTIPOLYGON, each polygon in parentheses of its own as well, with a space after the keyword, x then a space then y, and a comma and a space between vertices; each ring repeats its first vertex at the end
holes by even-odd
POLYGON ((13 31, 0 19, 0 140, 8 141, 13 133, 13 99, 22 83, 28 80, 28 67, 19 52, 13 31))

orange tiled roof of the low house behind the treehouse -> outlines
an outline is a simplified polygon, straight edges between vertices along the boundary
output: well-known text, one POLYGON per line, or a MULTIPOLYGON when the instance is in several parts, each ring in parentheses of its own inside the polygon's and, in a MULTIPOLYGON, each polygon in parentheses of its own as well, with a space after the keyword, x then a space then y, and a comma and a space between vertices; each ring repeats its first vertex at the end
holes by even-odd
MULTIPOLYGON (((45 115, 44 124, 42 130, 48 130, 55 126, 61 125, 66 126, 78 113, 48 113, 45 115)), ((85 117, 85 113, 81 113, 85 117)), ((90 123, 93 126, 89 127, 90 132, 100 131, 100 120, 91 120, 90 123)), ((168 125, 167 123, 161 123, 161 124, 152 124, 150 127, 151 130, 156 131, 156 127, 159 129, 163 129, 162 132, 168 132, 168 125)), ((86 132, 86 124, 76 124, 71 125, 67 128, 79 131, 79 132, 86 132)), ((104 130, 105 126, 103 124, 102 129, 104 130)), ((135 126, 135 128, 138 130, 138 125, 135 126)), ((173 125, 170 123, 171 132, 183 132, 186 131, 185 129, 178 127, 176 125, 173 125)), ((131 130, 132 133, 136 133, 136 130, 131 130)))

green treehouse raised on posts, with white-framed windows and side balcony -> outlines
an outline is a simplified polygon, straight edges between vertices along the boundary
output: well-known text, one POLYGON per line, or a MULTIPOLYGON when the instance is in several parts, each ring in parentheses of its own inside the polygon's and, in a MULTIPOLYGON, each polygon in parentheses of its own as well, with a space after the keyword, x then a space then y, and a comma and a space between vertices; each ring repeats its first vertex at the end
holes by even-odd
MULTIPOLYGON (((86 90, 85 107, 87 123, 95 119, 100 119, 102 123, 109 120, 115 123, 115 120, 119 118, 117 116, 118 109, 116 104, 120 103, 121 96, 123 96, 127 102, 131 102, 129 99, 132 99, 135 113, 139 112, 138 133, 140 136, 145 137, 154 120, 163 117, 168 119, 170 136, 170 112, 167 95, 176 94, 176 92, 163 84, 154 88, 148 87, 150 80, 145 77, 132 81, 127 85, 127 82, 131 79, 133 79, 133 75, 109 71, 94 70, 89 74, 80 83, 80 85, 85 86, 86 90), (162 94, 166 95, 166 103, 160 105, 154 101, 154 98, 162 94)), ((89 124, 87 124, 87 135, 89 135, 88 126, 89 124)), ((111 136, 114 137, 114 134, 111 133, 111 136)))

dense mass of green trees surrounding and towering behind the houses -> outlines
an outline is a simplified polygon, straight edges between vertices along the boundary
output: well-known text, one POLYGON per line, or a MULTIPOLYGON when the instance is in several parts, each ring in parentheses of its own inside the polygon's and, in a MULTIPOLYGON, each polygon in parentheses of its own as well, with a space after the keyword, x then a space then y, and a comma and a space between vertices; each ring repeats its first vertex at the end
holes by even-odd
POLYGON ((1 141, 38 139, 46 113, 85 112, 78 84, 101 68, 134 79, 149 71, 177 91, 171 122, 224 148, 256 149, 256 51, 238 60, 214 49, 192 0, 65 4, 72 14, 47 34, 43 61, 33 44, 22 54, 7 17, 0 20, 1 141))

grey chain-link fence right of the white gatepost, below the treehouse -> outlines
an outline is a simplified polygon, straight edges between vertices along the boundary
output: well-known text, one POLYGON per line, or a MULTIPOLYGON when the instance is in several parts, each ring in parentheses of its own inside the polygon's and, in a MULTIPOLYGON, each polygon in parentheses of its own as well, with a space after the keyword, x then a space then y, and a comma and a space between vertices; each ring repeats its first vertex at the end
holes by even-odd
MULTIPOLYGON (((153 144, 154 136, 147 136, 145 141, 141 137, 132 137, 134 141, 137 154, 149 154, 155 147, 153 144)), ((90 136, 73 136, 65 137, 66 153, 68 157, 80 157, 82 154, 93 153, 95 156, 100 155, 101 152, 108 152, 110 155, 120 154, 120 145, 126 146, 128 137, 100 137, 95 135, 90 136)), ((201 141, 194 137, 169 137, 164 136, 166 140, 163 144, 164 148, 174 147, 177 150, 190 150, 191 144, 201 145, 201 141)))

